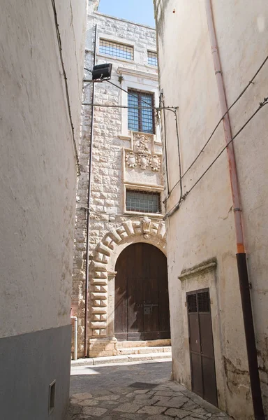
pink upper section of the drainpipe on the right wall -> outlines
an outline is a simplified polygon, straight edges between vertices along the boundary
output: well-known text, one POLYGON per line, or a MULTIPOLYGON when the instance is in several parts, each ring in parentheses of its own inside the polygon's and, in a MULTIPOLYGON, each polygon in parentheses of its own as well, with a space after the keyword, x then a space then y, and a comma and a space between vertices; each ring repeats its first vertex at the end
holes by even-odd
MULTIPOLYGON (((223 83, 223 73, 221 71, 221 61, 218 55, 218 45, 216 40, 216 32, 214 27, 214 20, 212 14, 211 0, 206 0, 206 11, 207 11, 207 25, 209 27, 209 38, 211 43, 212 57, 214 61, 214 69, 216 75, 216 81, 218 86, 218 97, 220 100, 221 114, 224 116, 228 110, 224 83, 223 83)), ((230 120, 228 113, 223 118, 223 128, 225 134, 225 141, 228 144, 232 139, 232 131, 230 126, 230 120)), ((234 206, 234 225, 235 232, 237 237, 237 253, 244 253, 244 235, 242 228, 242 219, 241 219, 241 204, 239 196, 239 183, 237 179, 237 165, 235 163, 234 157, 234 146, 232 143, 227 148, 228 153, 228 163, 229 163, 229 172, 230 172, 230 182, 232 188, 232 202, 234 206)))

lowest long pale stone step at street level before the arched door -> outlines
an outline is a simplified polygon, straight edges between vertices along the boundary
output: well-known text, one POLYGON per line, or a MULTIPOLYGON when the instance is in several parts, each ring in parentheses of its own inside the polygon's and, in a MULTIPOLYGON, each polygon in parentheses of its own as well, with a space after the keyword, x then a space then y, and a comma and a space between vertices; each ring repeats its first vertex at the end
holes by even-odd
POLYGON ((103 356, 94 358, 84 358, 71 361, 71 367, 76 366, 93 366, 93 365, 107 365, 110 363, 128 363, 140 362, 142 360, 171 360, 171 353, 144 353, 144 354, 129 354, 125 356, 103 356))

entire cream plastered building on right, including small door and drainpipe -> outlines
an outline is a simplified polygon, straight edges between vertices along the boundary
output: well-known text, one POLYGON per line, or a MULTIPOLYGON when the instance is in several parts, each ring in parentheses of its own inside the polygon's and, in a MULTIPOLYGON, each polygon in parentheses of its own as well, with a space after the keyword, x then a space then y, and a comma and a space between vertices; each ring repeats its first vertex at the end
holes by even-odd
POLYGON ((179 106, 179 150, 166 116, 173 376, 234 419, 265 419, 267 1, 154 0, 154 6, 160 87, 165 103, 179 106), (255 337, 248 332, 251 305, 255 337), (255 344, 257 355, 248 357, 255 344))

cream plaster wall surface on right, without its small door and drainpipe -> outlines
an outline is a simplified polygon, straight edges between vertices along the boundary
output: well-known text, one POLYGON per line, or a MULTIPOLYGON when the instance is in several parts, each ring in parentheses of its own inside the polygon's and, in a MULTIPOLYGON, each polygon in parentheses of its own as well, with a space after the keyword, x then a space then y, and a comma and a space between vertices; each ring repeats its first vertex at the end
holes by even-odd
MULTIPOLYGON (((267 51, 266 1, 213 1, 214 20, 228 104, 253 77, 267 51)), ((179 106, 179 134, 184 173, 208 139, 221 117, 214 66, 207 32, 204 2, 155 1, 160 85, 167 105, 179 106), (174 11, 174 13, 173 13, 174 11), (187 35, 186 35, 187 34, 187 35), (176 41, 177 40, 177 41, 176 41)), ((231 111, 233 133, 237 132, 258 104, 267 96, 267 69, 256 78, 244 97, 231 111)), ((267 118, 266 109, 234 143, 241 186, 246 251, 257 331, 262 391, 267 405, 267 118)), ((178 179, 177 144, 170 120, 168 163, 170 186, 178 179)), ((184 177, 184 193, 207 168, 224 145, 219 127, 198 164, 184 177)), ((171 209, 179 200, 179 186, 168 202, 171 209)), ((219 317, 214 330, 217 384, 221 407, 237 419, 250 419, 251 395, 244 342, 244 325, 235 260, 234 216, 226 154, 188 195, 181 209, 167 223, 170 312, 174 377, 191 387, 189 356, 184 340, 188 332, 184 319, 185 294, 177 276, 211 257, 218 260, 219 317), (181 320, 178 322, 177 320, 181 320), (239 342, 239 346, 237 346, 239 342), (219 346, 219 343, 221 345, 219 346), (224 384, 227 384, 225 386, 224 384), (245 404, 245 401, 247 402, 245 404)), ((199 287, 204 287, 204 279, 199 287)), ((195 287, 189 283, 189 289, 195 287)))

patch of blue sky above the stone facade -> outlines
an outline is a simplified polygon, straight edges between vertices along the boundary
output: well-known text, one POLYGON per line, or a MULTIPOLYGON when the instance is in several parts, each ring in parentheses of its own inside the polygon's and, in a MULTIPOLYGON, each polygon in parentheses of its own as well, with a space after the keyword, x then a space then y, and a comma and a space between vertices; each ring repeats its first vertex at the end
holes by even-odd
POLYGON ((153 0, 101 0, 98 11, 155 27, 153 0))

